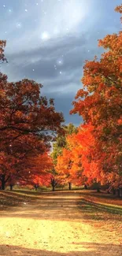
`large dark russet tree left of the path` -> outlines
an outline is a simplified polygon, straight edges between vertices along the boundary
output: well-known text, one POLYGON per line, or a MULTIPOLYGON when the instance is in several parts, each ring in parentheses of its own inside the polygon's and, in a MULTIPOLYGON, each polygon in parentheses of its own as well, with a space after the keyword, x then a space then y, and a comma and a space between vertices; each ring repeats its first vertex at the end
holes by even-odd
MULTIPOLYGON (((4 58, 0 41, 0 54, 4 58)), ((54 100, 41 95, 42 84, 33 80, 9 83, 0 73, 0 181, 2 189, 16 172, 25 173, 29 158, 38 157, 50 148, 50 141, 62 131, 62 113, 54 100)))

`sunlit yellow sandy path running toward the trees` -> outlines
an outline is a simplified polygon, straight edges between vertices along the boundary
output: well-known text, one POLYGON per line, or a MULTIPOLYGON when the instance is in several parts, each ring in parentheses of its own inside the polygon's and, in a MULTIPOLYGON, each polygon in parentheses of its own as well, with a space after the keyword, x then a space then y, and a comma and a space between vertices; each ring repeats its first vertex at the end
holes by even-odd
POLYGON ((43 195, 0 213, 0 256, 121 256, 112 232, 82 218, 79 193, 43 195))

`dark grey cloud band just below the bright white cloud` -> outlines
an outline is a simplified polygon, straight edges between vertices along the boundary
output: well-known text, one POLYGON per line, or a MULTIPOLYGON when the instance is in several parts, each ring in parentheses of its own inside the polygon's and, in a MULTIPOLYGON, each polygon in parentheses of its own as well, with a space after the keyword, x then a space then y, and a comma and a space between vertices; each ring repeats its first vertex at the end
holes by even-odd
MULTIPOLYGON (((76 71, 81 69, 84 61, 94 58, 94 38, 86 35, 68 36, 57 40, 57 43, 50 41, 47 46, 40 46, 34 50, 20 51, 14 54, 6 54, 9 60, 7 71, 12 80, 14 70, 14 80, 24 76, 35 80, 62 80, 63 83, 72 80, 72 76, 76 76, 76 71), (89 46, 89 40, 91 46, 89 46), (90 49, 90 50, 88 50, 90 49), (62 57, 63 56, 63 57, 62 57), (62 65, 58 64, 58 60, 62 59, 62 65), (61 74, 60 74, 61 71, 61 74)), ((99 50, 100 53, 100 50, 99 50)))

